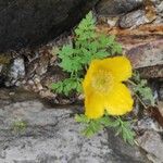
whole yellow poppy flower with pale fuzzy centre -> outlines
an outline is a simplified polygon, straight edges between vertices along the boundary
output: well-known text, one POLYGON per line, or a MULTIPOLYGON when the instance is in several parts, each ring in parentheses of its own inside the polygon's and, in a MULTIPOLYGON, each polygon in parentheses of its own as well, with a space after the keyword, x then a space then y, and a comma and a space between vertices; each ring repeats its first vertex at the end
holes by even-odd
POLYGON ((93 60, 85 76, 85 114, 98 118, 106 111, 123 115, 133 109, 129 89, 122 83, 131 77, 131 65, 126 57, 93 60))

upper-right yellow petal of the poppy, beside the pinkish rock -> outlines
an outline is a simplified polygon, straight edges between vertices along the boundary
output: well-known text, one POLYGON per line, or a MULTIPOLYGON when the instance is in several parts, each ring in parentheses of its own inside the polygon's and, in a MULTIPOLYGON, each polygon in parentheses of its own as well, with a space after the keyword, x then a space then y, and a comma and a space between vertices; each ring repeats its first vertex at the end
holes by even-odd
POLYGON ((131 77, 131 65, 126 57, 95 60, 92 63, 97 70, 102 68, 112 73, 116 82, 124 82, 131 77))

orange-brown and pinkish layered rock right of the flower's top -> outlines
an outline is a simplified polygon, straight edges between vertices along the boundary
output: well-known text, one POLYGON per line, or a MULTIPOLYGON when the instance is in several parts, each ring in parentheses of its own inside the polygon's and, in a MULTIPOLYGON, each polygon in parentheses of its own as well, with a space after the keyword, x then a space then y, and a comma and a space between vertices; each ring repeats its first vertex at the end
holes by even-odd
MULTIPOLYGON (((151 75, 163 77, 163 26, 143 25, 136 29, 121 29, 114 27, 97 27, 98 33, 106 35, 116 35, 116 40, 123 47, 125 53, 131 61, 134 68, 151 67, 151 75), (156 66, 155 70, 152 66, 156 66), (154 71, 154 74, 152 74, 154 71)), ((146 71, 146 75, 150 76, 150 72, 146 71)))

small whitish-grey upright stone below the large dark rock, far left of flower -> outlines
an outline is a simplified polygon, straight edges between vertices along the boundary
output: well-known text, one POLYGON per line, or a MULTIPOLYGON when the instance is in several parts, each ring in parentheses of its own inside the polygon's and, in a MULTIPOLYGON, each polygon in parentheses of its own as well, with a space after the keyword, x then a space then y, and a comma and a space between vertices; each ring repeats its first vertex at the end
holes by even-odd
POLYGON ((18 79, 23 79, 25 76, 25 64, 23 58, 13 59, 10 63, 10 67, 7 70, 5 86, 14 86, 18 79))

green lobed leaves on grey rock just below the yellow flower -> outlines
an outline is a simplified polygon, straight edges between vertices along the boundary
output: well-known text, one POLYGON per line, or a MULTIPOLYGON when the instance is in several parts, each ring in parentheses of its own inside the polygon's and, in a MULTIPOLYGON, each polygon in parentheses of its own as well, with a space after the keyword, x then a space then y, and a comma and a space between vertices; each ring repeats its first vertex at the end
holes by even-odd
POLYGON ((104 115, 100 118, 89 120, 86 115, 80 114, 76 115, 75 120, 86 125, 82 133, 87 137, 93 136, 103 129, 103 127, 112 127, 116 131, 115 136, 122 135, 125 142, 134 145, 135 131, 131 129, 130 123, 128 121, 123 121, 121 117, 113 118, 109 115, 104 115))

